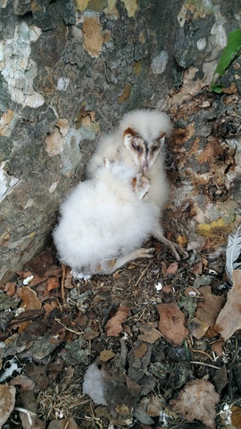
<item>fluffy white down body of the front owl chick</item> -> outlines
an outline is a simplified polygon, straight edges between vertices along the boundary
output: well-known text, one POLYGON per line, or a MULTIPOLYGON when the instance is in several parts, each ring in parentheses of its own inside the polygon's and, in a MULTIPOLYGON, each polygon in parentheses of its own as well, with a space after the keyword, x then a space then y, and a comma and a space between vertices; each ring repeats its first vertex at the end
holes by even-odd
POLYGON ((80 182, 60 209, 54 243, 62 263, 81 271, 139 248, 159 220, 159 209, 137 197, 131 169, 114 163, 80 182))

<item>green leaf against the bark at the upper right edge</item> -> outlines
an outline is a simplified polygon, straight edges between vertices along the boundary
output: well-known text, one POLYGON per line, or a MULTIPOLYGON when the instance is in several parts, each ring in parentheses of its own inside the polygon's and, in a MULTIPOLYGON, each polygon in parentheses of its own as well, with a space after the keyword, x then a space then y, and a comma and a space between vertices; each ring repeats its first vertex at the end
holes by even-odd
POLYGON ((219 78, 223 76, 229 65, 236 60, 241 53, 241 29, 235 29, 229 33, 227 46, 220 57, 220 61, 212 76, 211 88, 214 92, 221 92, 221 86, 215 84, 214 78, 218 74, 219 78))

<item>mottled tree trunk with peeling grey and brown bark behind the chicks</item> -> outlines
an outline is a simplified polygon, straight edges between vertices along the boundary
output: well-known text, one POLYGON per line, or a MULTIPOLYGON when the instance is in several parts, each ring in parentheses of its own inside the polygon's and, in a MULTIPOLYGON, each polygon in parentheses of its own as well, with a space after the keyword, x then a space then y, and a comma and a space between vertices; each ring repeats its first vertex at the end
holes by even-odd
POLYGON ((2 1, 2 282, 45 245, 99 135, 131 109, 164 109, 174 122, 166 227, 198 250, 204 224, 230 230, 241 199, 240 63, 226 93, 209 84, 241 21, 239 0, 216 3, 2 1))

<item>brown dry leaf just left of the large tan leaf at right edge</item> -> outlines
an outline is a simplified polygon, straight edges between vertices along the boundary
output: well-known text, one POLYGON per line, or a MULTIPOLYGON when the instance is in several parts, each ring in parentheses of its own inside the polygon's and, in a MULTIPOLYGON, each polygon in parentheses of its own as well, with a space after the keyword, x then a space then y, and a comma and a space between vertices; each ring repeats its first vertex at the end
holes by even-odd
POLYGON ((209 326, 214 326, 220 310, 224 306, 225 298, 213 295, 211 286, 202 286, 198 291, 204 299, 198 300, 195 317, 209 326))

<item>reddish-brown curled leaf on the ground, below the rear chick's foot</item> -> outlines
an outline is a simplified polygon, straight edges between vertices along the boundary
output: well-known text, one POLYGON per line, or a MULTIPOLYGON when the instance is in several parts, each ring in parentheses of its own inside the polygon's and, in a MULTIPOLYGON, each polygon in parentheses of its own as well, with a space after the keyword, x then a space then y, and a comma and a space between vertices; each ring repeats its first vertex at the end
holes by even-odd
POLYGON ((157 306, 160 315, 158 329, 169 341, 180 346, 187 337, 188 331, 184 326, 185 315, 176 302, 162 303, 157 306))

